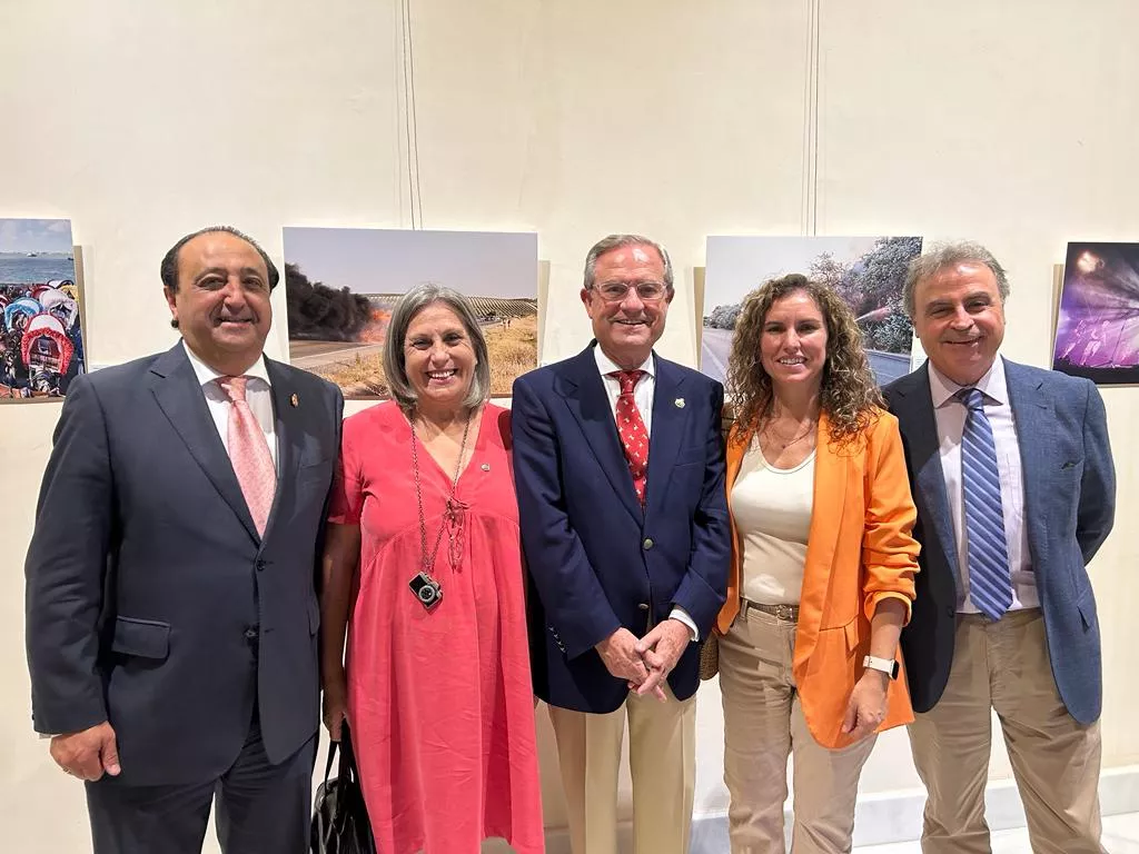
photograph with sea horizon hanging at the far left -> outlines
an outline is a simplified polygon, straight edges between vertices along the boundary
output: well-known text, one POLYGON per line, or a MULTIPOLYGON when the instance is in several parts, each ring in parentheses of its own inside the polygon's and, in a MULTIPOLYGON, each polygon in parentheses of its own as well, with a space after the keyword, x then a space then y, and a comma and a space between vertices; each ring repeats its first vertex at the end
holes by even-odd
POLYGON ((0 219, 0 402, 63 397, 84 369, 71 222, 0 219))

